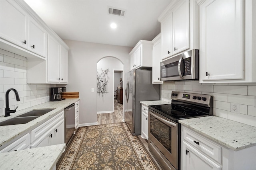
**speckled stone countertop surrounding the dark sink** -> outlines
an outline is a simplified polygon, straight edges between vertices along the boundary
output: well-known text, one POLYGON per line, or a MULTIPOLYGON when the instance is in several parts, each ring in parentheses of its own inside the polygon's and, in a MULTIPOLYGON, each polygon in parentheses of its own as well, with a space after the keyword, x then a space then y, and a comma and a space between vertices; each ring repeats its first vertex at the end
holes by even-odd
POLYGON ((30 130, 34 129, 38 125, 42 124, 43 122, 47 121, 48 119, 54 117, 64 108, 68 107, 70 104, 77 102, 79 98, 76 99, 66 99, 58 102, 46 102, 43 104, 39 104, 33 107, 29 107, 27 109, 23 109, 20 111, 16 111, 16 113, 11 113, 8 117, 0 117, 0 122, 10 119, 12 117, 16 117, 28 111, 32 111, 33 109, 50 109, 56 108, 26 124, 19 124, 19 125, 7 125, 7 126, 0 126, 0 147, 4 144, 8 143, 12 139, 15 139, 18 136, 25 135, 30 130))

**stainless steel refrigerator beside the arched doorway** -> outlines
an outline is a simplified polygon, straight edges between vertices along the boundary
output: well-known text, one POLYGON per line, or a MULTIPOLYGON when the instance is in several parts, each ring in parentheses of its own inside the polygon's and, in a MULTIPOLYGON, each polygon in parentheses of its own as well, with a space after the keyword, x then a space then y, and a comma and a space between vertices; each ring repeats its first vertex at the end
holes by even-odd
POLYGON ((133 135, 141 135, 140 101, 160 100, 160 84, 152 84, 152 70, 133 69, 125 80, 124 120, 133 135))

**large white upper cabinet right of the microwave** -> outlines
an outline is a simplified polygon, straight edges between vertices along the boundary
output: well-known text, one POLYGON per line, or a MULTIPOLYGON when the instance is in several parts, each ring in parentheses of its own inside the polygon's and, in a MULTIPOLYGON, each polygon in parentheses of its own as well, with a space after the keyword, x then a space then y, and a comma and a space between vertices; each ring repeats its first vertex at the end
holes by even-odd
POLYGON ((256 82, 255 1, 207 0, 200 5, 200 83, 256 82))

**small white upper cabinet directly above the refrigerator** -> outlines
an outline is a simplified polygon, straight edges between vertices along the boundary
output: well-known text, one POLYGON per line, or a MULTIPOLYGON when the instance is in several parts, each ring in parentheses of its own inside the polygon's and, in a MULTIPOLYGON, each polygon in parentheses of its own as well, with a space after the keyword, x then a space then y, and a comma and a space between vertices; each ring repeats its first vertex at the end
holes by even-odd
POLYGON ((152 42, 140 40, 130 54, 131 70, 140 67, 152 67, 152 42))

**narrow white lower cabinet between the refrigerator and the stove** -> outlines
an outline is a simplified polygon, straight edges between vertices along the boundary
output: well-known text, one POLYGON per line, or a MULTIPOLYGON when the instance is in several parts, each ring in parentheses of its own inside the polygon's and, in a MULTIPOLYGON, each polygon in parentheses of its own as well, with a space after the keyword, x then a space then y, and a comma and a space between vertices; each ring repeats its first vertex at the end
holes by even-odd
POLYGON ((141 106, 141 137, 148 140, 148 107, 141 106))

